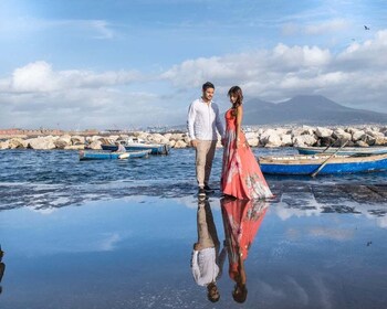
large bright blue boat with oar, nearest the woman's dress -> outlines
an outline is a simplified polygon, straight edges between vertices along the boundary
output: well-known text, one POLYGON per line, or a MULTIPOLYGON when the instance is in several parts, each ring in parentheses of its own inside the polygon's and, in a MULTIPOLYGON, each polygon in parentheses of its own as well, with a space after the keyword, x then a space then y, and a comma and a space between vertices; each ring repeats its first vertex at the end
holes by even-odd
POLYGON ((292 154, 260 157, 265 174, 341 174, 387 170, 387 153, 375 156, 292 154))

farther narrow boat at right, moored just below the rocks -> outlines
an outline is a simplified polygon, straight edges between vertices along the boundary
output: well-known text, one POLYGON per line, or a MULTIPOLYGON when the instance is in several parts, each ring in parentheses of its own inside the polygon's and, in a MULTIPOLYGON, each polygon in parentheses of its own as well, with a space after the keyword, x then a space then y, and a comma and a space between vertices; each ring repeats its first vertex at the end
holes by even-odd
POLYGON ((387 147, 296 147, 300 154, 317 154, 317 153, 335 153, 338 156, 372 156, 372 154, 384 154, 387 153, 387 147))

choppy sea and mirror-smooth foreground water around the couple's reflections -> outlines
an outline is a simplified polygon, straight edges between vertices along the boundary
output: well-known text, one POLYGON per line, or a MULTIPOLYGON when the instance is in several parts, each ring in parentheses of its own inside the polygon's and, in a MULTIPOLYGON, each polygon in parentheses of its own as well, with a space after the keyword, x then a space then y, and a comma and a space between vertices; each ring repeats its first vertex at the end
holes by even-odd
MULTIPOLYGON (((221 158, 206 202, 222 247, 221 158)), ((266 181, 275 196, 244 262, 248 297, 233 300, 227 258, 211 302, 191 270, 192 149, 102 161, 1 150, 0 308, 387 308, 387 172, 266 181)))

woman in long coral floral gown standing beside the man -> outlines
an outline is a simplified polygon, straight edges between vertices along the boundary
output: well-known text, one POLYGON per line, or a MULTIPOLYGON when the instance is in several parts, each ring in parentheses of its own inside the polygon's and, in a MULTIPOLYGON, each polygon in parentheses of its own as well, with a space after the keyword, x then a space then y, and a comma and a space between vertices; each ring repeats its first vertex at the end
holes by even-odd
POLYGON ((241 129, 243 117, 242 89, 233 86, 230 88, 228 96, 232 106, 224 115, 222 192, 242 200, 271 198, 273 194, 241 129))

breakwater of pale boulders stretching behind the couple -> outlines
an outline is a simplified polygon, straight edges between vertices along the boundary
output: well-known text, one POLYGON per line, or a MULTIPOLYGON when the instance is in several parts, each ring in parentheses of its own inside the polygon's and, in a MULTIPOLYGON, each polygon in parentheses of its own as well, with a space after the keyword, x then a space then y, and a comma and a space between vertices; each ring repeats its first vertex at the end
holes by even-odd
MULTIPOLYGON (((251 147, 303 147, 328 146, 335 142, 341 146, 348 140, 347 147, 387 146, 387 126, 356 127, 266 127, 244 128, 251 147)), ((190 139, 187 132, 146 132, 133 131, 114 135, 41 135, 0 136, 0 149, 102 149, 103 143, 115 143, 125 140, 144 140, 151 143, 167 143, 171 148, 187 148, 190 139)), ((221 147, 220 137, 218 146, 221 147)))

